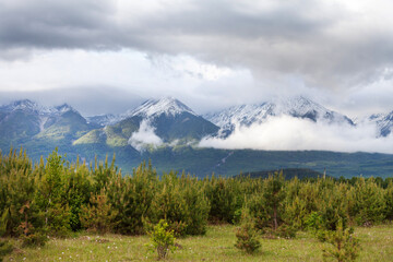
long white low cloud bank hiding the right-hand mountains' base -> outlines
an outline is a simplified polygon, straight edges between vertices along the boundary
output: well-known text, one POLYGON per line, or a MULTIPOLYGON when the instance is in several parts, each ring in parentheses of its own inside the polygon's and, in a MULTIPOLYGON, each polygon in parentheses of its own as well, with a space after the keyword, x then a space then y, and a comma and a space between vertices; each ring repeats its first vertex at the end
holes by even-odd
POLYGON ((226 139, 204 138, 202 147, 251 148, 266 151, 335 151, 393 153, 393 135, 377 138, 377 127, 370 122, 356 127, 331 124, 282 116, 250 127, 239 127, 226 139))

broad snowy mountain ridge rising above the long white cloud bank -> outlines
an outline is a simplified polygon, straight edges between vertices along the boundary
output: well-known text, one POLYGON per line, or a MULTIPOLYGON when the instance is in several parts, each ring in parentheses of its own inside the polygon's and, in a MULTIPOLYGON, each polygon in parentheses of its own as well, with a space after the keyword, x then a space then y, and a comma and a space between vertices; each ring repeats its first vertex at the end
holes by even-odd
POLYGON ((204 118, 221 127, 221 135, 226 136, 234 131, 236 124, 248 127, 252 123, 263 123, 267 118, 283 115, 307 118, 314 122, 354 124, 348 117, 329 110, 302 96, 262 104, 234 106, 218 112, 206 114, 204 118))

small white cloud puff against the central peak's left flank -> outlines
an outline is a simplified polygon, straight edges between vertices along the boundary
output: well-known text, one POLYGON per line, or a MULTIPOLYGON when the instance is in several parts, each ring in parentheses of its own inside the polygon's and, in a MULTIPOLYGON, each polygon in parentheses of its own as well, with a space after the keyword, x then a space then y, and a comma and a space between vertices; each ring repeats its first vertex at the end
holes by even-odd
POLYGON ((129 144, 138 151, 143 151, 147 145, 158 146, 163 144, 163 140, 154 133, 154 128, 148 121, 141 122, 138 132, 132 133, 129 144))

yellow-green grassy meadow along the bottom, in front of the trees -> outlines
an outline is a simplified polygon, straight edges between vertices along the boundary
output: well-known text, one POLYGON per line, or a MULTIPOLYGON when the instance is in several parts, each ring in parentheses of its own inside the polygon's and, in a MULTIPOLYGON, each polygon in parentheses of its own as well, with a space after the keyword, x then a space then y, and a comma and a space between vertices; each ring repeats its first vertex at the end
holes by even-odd
MULTIPOLYGON (((322 243, 309 233, 299 233, 290 240, 261 238, 261 251, 248 255, 234 247, 235 228, 209 226, 203 237, 177 239, 181 247, 167 261, 322 261, 322 243)), ((361 246, 357 261, 393 261, 393 225, 357 227, 355 235, 361 246)), ((156 253, 147 251, 148 243, 147 236, 78 234, 52 239, 44 248, 16 249, 4 261, 156 261, 156 253)))

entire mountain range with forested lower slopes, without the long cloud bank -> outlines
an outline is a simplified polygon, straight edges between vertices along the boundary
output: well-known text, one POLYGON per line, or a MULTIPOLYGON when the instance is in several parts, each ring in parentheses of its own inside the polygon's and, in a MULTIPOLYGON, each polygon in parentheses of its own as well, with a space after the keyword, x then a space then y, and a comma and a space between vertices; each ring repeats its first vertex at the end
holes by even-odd
MULTIPOLYGON (((7 152, 10 146, 23 145, 34 159, 38 159, 40 155, 47 155, 55 147, 59 147, 59 151, 67 153, 69 158, 73 159, 79 155, 87 162, 94 159, 95 155, 102 159, 107 154, 116 153, 117 163, 128 171, 147 158, 153 159, 159 170, 184 169, 199 176, 212 171, 236 175, 240 170, 308 168, 310 165, 317 166, 319 171, 322 171, 329 166, 327 163, 323 163, 322 159, 313 162, 306 159, 310 157, 305 156, 308 155, 307 152, 290 153, 293 156, 299 155, 299 159, 295 159, 296 157, 289 159, 293 156, 289 157, 288 153, 283 152, 282 155, 287 155, 289 158, 284 157, 282 162, 270 158, 275 165, 266 165, 266 163, 257 163, 262 155, 264 158, 271 157, 269 152, 262 154, 248 150, 225 151, 198 146, 203 138, 227 138, 237 126, 263 124, 267 119, 284 115, 327 124, 356 124, 345 115, 326 109, 302 96, 235 106, 204 116, 199 116, 172 97, 146 100, 141 106, 120 115, 93 117, 83 117, 67 104, 45 107, 25 99, 0 106, 0 148, 7 152), (242 156, 239 152, 249 155, 250 163, 240 164, 239 159, 242 159, 242 156), (234 163, 238 165, 234 166, 234 163)), ((393 111, 386 115, 372 115, 367 120, 376 126, 376 136, 388 136, 393 127, 393 111)), ((335 154, 342 153, 321 153, 332 159, 336 158, 335 154)), ((353 155, 344 154, 345 157, 352 163, 349 166, 354 166, 355 169, 350 169, 356 171, 354 175, 359 171, 365 172, 364 169, 357 168, 353 155)), ((393 163, 393 156, 374 154, 369 159, 373 160, 369 166, 378 163, 376 165, 384 167, 383 174, 390 171, 393 174, 393 167, 386 169, 389 166, 386 163, 393 163), (376 158, 376 155, 380 157, 376 158)), ((336 168, 336 172, 340 174, 340 168, 336 168)))

